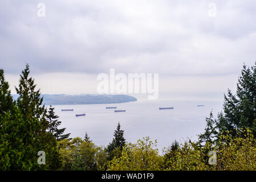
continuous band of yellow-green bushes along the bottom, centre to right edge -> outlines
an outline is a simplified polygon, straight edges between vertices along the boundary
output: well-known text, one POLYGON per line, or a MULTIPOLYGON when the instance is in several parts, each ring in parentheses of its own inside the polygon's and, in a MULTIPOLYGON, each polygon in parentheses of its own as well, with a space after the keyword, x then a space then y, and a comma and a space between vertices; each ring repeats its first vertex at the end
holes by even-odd
POLYGON ((108 162, 108 170, 170 170, 170 171, 209 171, 209 170, 255 170, 256 139, 249 129, 237 131, 235 137, 230 132, 221 134, 217 145, 205 143, 204 147, 190 140, 184 143, 173 142, 160 156, 149 138, 136 144, 127 143, 120 158, 108 162), (216 152, 217 164, 210 164, 216 152))

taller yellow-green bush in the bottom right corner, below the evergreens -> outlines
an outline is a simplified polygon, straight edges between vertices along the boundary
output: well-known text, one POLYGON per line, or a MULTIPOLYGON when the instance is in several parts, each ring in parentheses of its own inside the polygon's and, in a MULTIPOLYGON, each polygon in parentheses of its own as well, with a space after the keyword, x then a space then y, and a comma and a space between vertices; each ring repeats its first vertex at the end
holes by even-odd
POLYGON ((218 170, 256 170, 256 139, 248 128, 237 131, 236 137, 221 135, 218 146, 218 170))

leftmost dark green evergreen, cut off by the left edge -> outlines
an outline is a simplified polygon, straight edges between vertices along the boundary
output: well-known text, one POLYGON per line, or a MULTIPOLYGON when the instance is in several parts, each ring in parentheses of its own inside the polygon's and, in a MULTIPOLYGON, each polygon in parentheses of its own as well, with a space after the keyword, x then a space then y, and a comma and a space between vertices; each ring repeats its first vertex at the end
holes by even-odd
MULTIPOLYGON (((29 168, 22 140, 25 121, 11 97, 4 71, 0 69, 0 170, 29 168)), ((31 163, 31 161, 30 161, 31 163)))

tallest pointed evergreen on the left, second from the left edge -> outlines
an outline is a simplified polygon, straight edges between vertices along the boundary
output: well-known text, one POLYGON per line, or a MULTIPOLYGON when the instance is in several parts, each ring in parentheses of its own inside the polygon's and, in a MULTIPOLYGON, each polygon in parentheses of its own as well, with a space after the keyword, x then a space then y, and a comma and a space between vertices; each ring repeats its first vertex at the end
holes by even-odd
POLYGON ((23 135, 22 143, 25 150, 23 166, 29 166, 30 170, 58 169, 60 167, 57 141, 54 136, 47 132, 46 121, 47 110, 40 96, 40 90, 36 90, 34 79, 29 77, 29 65, 22 71, 19 86, 15 88, 19 95, 17 106, 22 114, 25 125, 21 129, 23 135), (38 165, 38 151, 46 154, 46 165, 38 165))

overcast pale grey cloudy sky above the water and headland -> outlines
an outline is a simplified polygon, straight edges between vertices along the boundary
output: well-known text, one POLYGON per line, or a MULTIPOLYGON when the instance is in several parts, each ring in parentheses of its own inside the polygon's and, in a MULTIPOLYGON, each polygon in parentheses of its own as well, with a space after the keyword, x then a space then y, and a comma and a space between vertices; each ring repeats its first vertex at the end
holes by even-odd
POLYGON ((11 89, 29 63, 42 93, 96 93, 110 68, 159 73, 162 96, 224 93, 256 61, 253 0, 1 0, 0 22, 11 89))

